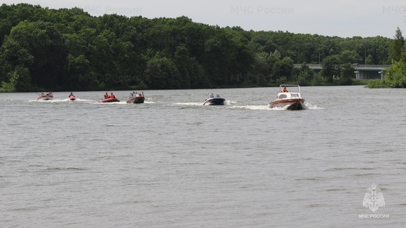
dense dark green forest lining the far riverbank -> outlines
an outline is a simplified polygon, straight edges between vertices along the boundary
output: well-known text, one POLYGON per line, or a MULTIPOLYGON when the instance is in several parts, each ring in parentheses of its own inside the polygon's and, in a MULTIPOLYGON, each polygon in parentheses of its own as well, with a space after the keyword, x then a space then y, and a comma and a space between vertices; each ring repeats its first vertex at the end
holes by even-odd
POLYGON ((0 91, 351 85, 351 63, 389 64, 391 44, 3 4, 0 91))

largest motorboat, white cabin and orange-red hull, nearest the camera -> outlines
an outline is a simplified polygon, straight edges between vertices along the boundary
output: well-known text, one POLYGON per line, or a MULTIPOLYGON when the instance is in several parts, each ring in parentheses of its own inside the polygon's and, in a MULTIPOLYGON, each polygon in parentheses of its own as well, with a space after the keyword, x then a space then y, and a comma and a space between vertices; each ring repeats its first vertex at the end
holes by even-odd
MULTIPOLYGON (((276 97, 276 100, 269 103, 269 108, 284 108, 286 110, 302 110, 304 109, 304 99, 300 93, 300 86, 299 85, 280 85, 280 92, 276 97), (282 88, 283 86, 283 88, 282 88), (297 92, 288 92, 286 89, 288 87, 297 87, 297 92)), ((290 89, 290 88, 289 88, 290 89)))

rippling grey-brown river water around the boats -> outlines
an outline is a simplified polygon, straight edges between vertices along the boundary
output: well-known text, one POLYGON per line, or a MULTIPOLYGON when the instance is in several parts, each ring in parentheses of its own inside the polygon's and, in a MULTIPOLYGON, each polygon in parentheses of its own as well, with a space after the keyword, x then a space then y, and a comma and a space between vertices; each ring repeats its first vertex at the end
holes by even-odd
POLYGON ((0 94, 1 227, 406 225, 405 89, 301 87, 301 111, 275 87, 113 92, 0 94))

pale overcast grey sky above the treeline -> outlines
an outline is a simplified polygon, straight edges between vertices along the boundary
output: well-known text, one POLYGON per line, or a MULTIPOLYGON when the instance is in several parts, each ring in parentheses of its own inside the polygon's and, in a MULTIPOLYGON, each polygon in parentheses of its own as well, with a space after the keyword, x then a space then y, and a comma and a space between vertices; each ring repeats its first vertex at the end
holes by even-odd
MULTIPOLYGON (((21 1, 3 0, 6 4, 21 1)), ((80 7, 91 15, 187 16, 194 22, 240 26, 245 30, 290 31, 339 37, 393 38, 396 27, 406 35, 404 8, 398 0, 25 0, 52 9, 80 7)))

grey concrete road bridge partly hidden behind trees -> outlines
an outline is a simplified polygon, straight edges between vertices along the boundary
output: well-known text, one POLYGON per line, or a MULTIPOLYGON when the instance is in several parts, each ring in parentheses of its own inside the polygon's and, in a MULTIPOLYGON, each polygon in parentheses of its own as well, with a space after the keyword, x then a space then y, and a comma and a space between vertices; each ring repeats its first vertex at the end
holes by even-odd
MULTIPOLYGON (((313 69, 316 72, 323 70, 321 64, 307 64, 310 69, 313 69)), ((301 64, 293 64, 293 67, 299 68, 301 64)), ((356 79, 383 79, 385 77, 385 69, 389 68, 390 65, 363 65, 357 64, 353 65, 355 68, 355 78, 356 79)))

